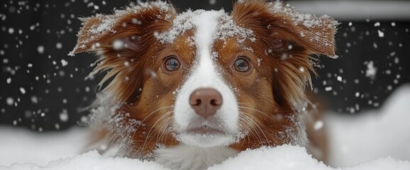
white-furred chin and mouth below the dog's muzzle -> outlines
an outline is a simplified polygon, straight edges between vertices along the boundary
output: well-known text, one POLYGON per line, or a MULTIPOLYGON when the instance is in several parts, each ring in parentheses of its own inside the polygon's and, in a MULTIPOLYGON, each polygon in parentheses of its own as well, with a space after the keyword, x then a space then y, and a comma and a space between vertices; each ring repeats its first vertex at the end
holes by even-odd
POLYGON ((235 137, 221 130, 196 128, 179 133, 177 138, 194 147, 223 147, 233 143, 235 137))

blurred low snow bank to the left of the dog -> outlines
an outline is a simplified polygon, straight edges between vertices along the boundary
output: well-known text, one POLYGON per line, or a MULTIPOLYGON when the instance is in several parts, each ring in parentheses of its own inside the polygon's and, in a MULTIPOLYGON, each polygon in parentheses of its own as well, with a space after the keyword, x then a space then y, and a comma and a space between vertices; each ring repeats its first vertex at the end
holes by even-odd
POLYGON ((89 141, 84 128, 65 132, 32 132, 23 128, 0 126, 0 166, 15 162, 48 162, 82 153, 89 141))

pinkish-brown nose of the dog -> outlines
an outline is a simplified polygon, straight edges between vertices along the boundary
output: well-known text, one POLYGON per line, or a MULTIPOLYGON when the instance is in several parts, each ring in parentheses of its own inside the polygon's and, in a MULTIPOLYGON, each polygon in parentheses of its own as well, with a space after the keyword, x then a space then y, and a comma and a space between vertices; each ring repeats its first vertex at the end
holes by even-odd
POLYGON ((189 96, 189 104, 194 108, 195 113, 204 118, 215 115, 216 111, 221 108, 222 101, 221 94, 210 88, 196 89, 189 96))

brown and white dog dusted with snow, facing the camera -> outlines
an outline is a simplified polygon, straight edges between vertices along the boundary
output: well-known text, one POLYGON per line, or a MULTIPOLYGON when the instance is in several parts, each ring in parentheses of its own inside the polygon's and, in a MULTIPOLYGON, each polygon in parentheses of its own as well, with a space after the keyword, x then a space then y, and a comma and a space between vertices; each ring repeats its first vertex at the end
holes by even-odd
POLYGON ((248 148, 308 144, 311 55, 336 57, 337 25, 280 2, 243 0, 229 14, 155 1, 84 18, 70 55, 94 52, 92 74, 108 72, 91 117, 106 147, 206 169, 248 148))

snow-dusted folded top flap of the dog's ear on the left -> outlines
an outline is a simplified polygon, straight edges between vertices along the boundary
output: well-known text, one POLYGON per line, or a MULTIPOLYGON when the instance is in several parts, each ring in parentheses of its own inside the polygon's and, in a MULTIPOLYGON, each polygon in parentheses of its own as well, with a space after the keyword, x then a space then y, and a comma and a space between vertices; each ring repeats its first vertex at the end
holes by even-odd
MULTIPOLYGON (((138 36, 148 33, 153 35, 172 25, 175 16, 176 11, 170 4, 155 1, 133 4, 111 15, 96 14, 96 16, 80 18, 82 28, 77 34, 77 45, 69 55, 95 52, 109 45, 118 50, 118 45, 113 43, 114 40, 125 40, 123 45, 126 45, 131 41, 137 41, 133 38, 138 36)), ((128 49, 137 50, 134 46, 128 49)))

